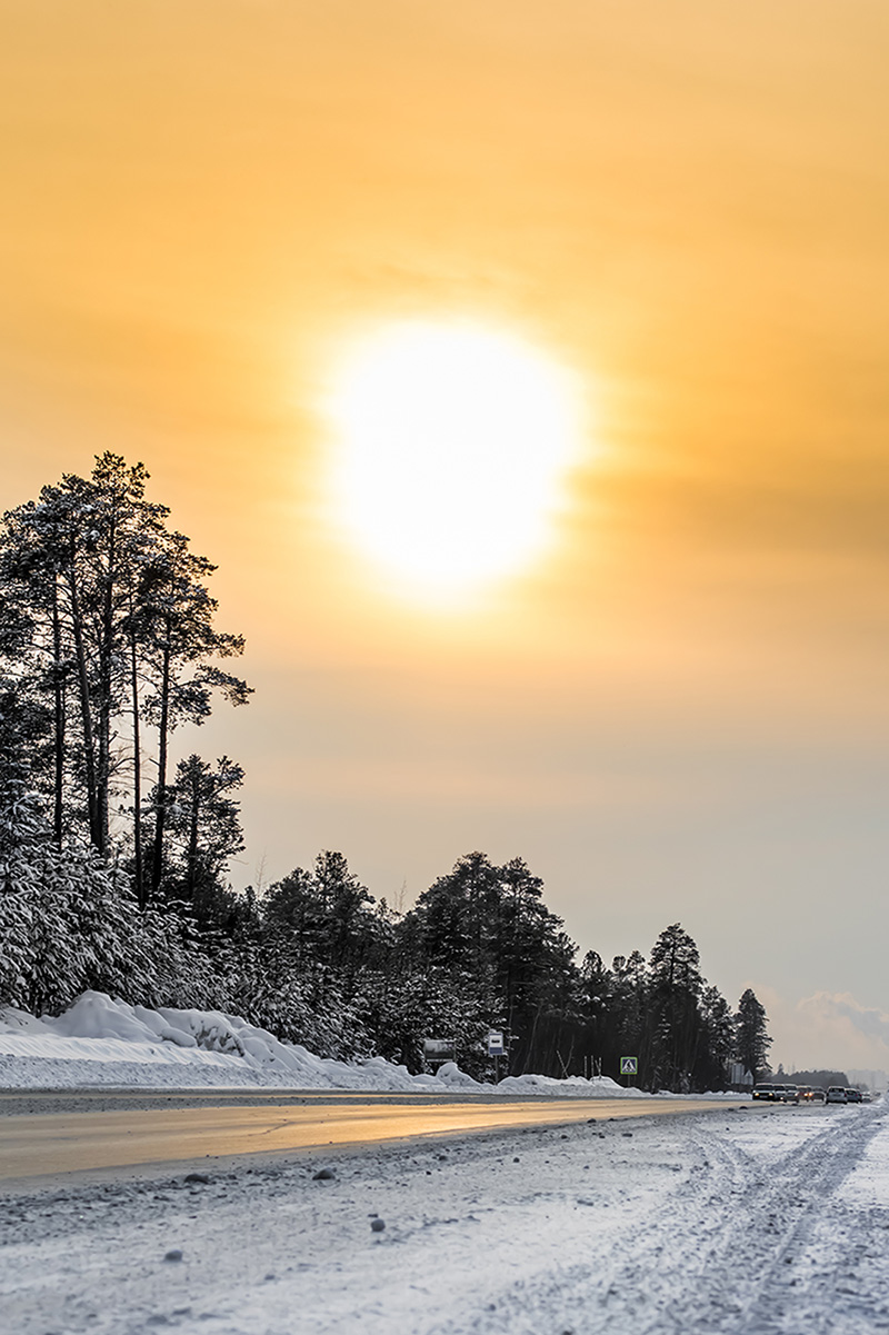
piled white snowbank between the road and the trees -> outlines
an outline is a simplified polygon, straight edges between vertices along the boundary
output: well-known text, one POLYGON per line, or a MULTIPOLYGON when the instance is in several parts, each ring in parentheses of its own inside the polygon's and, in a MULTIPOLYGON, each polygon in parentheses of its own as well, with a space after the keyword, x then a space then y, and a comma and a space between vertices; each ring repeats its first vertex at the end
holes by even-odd
MULTIPOLYGON (((483 1091, 517 1096, 647 1099, 607 1076, 509 1076, 486 1085, 453 1061, 436 1075, 412 1076, 383 1057, 332 1061, 299 1044, 282 1043, 266 1029, 220 1011, 175 1011, 113 1001, 101 992, 83 996, 57 1017, 36 1019, 0 1009, 0 1088, 287 1087, 392 1092, 483 1091)), ((737 1096, 735 1096, 737 1097, 737 1096)))

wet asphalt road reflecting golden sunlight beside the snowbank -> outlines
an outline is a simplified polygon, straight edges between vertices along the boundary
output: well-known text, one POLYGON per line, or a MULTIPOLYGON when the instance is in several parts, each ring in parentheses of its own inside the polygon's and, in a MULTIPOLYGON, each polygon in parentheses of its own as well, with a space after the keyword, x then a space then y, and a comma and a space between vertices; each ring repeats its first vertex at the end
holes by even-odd
MULTIPOLYGON (((132 1096, 121 1095, 123 1101, 132 1096)), ((267 1101, 188 1095, 139 1095, 140 1107, 116 1108, 113 1097, 0 1100, 0 1180, 45 1177, 140 1164, 174 1164, 238 1155, 284 1155, 322 1145, 368 1145, 408 1137, 555 1125, 609 1117, 639 1117, 725 1109, 725 1100, 374 1097, 299 1095, 267 1101), (190 1105, 188 1105, 190 1104, 190 1105), (258 1105, 259 1104, 259 1105, 258 1105), (84 1111, 73 1111, 83 1108, 84 1111)))

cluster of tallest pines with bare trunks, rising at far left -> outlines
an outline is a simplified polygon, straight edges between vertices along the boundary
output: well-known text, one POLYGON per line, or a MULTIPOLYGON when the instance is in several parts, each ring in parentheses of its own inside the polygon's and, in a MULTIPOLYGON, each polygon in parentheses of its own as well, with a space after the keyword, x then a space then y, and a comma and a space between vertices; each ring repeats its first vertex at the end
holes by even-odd
POLYGON ((39 733, 32 782, 52 793, 53 834, 85 833, 108 857, 113 800, 132 793, 133 869, 143 906, 163 873, 170 733, 202 722, 214 692, 243 704, 246 682, 218 658, 243 639, 214 630, 214 567, 148 502, 148 474, 109 451, 89 478, 65 474, 0 526, 0 696, 15 693, 39 733), (144 726, 158 730, 151 877, 143 869, 144 726))

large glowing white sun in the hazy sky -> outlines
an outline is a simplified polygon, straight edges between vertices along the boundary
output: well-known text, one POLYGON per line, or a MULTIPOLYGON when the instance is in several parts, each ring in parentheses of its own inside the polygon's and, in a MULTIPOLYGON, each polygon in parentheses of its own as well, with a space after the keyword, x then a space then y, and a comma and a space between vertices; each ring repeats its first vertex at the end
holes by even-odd
POLYGON ((553 541, 581 394, 525 339, 386 324, 340 356, 324 407, 336 522, 403 591, 461 597, 553 541))

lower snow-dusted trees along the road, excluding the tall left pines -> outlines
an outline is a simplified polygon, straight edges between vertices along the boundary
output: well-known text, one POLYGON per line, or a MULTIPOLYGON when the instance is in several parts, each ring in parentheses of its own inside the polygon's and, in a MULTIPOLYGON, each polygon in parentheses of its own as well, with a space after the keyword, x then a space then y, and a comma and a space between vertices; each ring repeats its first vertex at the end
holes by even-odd
POLYGON ((410 912, 375 902, 340 853, 322 853, 266 894, 203 882, 196 900, 140 909, 129 873, 88 845, 56 846, 21 774, 0 781, 0 1001, 59 1012, 85 988, 131 1003, 226 1009, 324 1056, 382 1055, 424 1068, 446 1039, 490 1076, 485 1037, 503 1029, 505 1071, 617 1076, 639 1061, 650 1089, 718 1089, 741 1063, 761 1073, 765 1012, 731 1012, 679 924, 643 959, 577 961, 539 878, 515 858, 462 857, 410 912))

